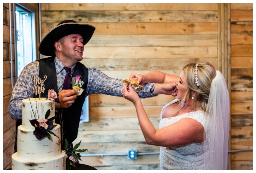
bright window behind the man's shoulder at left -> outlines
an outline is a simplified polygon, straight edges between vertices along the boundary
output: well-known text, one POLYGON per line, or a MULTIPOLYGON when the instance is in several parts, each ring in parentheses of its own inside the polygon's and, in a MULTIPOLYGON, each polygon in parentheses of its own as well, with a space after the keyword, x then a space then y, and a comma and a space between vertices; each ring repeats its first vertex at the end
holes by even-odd
POLYGON ((36 60, 35 13, 15 4, 16 80, 22 69, 36 60))

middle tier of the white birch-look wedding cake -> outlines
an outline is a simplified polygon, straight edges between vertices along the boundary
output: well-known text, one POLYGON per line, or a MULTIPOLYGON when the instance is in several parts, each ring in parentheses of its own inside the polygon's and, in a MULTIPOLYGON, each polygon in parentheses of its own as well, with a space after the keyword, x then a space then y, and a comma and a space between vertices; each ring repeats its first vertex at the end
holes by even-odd
POLYGON ((51 140, 47 137, 38 140, 33 134, 35 129, 25 129, 22 125, 18 127, 18 157, 23 161, 40 161, 57 157, 61 154, 60 125, 51 131, 51 140))

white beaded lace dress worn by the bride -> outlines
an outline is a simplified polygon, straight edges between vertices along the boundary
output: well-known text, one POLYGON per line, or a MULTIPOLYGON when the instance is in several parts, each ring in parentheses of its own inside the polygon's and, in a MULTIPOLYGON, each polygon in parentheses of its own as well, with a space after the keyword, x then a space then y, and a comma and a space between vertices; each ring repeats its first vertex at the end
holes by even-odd
MULTIPOLYGON (((179 101, 174 99, 165 107, 179 101)), ((159 124, 159 129, 180 121, 182 118, 192 118, 203 125, 206 128, 207 124, 204 118, 204 114, 201 110, 182 114, 180 116, 169 117, 162 119, 159 124)), ((209 140, 206 139, 202 143, 190 143, 187 145, 175 146, 175 147, 160 147, 160 167, 161 169, 207 169, 204 168, 204 145, 209 145, 209 140)))

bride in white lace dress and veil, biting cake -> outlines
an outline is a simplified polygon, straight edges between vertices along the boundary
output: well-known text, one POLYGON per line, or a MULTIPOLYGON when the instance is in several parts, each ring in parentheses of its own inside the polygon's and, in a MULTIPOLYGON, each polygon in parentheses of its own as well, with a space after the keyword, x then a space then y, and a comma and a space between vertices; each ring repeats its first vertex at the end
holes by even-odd
POLYGON ((152 71, 133 77, 140 84, 155 83, 154 94, 177 97, 163 107, 156 130, 132 85, 124 86, 124 98, 134 104, 147 144, 160 146, 161 169, 227 169, 229 94, 212 64, 188 64, 180 76, 152 71))

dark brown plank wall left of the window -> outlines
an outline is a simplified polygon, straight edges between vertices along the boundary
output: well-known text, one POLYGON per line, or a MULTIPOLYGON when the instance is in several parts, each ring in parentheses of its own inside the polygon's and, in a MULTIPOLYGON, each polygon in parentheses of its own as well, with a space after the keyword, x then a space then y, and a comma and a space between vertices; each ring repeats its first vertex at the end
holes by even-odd
MULTIPOLYGON (((11 6, 12 9, 12 6, 11 6)), ((11 12, 11 15, 13 12, 11 12)), ((16 120, 12 120, 9 111, 8 111, 8 103, 12 96, 12 85, 11 85, 11 65, 10 61, 12 60, 13 64, 13 81, 15 81, 15 68, 14 68, 14 44, 13 44, 13 20, 10 21, 9 15, 9 4, 4 3, 4 10, 3 10, 3 18, 4 18, 4 25, 3 25, 3 155, 4 155, 4 162, 3 162, 3 169, 10 169, 12 167, 12 154, 14 153, 14 141, 16 135, 16 120), (12 58, 11 58, 11 49, 10 49, 10 22, 12 26, 12 58)))

